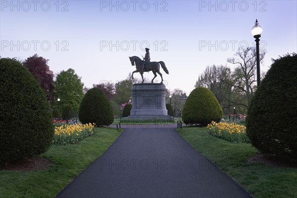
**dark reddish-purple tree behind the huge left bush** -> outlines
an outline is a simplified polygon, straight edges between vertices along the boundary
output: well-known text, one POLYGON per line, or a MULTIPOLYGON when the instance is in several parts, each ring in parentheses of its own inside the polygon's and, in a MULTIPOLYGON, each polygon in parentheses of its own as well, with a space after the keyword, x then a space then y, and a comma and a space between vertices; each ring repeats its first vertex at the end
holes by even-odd
POLYGON ((47 59, 34 54, 25 59, 23 65, 33 74, 34 78, 39 82, 41 88, 46 93, 49 102, 54 100, 53 73, 49 70, 47 59))

